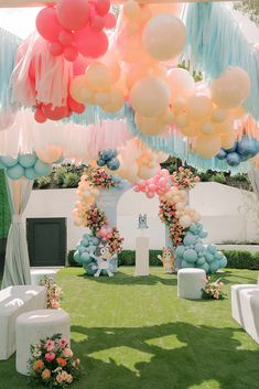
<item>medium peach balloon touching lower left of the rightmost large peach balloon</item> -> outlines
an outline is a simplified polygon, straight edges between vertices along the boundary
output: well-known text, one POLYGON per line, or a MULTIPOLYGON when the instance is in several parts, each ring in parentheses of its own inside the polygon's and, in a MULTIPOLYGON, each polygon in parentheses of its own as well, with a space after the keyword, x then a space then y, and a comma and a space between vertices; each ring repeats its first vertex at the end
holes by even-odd
POLYGON ((187 100, 187 115, 194 121, 204 121, 212 116, 213 102, 209 97, 194 95, 187 100))

